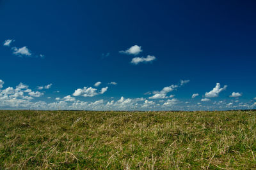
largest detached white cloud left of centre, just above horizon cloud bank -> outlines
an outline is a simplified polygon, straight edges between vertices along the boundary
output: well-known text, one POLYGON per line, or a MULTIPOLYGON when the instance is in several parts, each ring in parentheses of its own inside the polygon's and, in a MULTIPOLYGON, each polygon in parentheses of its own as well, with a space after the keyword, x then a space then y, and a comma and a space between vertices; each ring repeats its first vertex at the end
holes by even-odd
POLYGON ((93 97, 98 94, 104 94, 108 90, 108 87, 103 87, 100 92, 97 92, 97 89, 92 87, 84 87, 83 89, 76 89, 73 93, 73 96, 84 96, 84 97, 93 97))

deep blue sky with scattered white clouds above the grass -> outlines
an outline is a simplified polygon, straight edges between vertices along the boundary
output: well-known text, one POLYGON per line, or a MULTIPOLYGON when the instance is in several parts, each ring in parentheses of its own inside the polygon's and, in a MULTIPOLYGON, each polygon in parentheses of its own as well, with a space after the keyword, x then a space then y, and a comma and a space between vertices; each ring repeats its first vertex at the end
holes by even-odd
POLYGON ((2 0, 0 109, 255 109, 255 7, 2 0))

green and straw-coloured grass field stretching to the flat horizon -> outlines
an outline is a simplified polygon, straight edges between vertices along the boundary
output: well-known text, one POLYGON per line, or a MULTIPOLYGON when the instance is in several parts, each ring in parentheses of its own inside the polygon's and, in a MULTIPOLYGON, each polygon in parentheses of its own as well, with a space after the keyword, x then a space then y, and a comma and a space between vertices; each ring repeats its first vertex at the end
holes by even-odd
POLYGON ((0 169, 256 169, 256 111, 0 111, 0 169))

